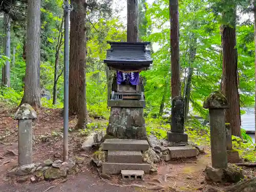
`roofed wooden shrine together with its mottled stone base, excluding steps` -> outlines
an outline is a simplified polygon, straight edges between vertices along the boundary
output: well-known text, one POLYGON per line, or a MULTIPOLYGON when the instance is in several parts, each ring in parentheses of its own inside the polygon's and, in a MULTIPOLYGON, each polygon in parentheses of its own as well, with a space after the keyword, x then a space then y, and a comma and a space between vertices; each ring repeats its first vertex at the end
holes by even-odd
POLYGON ((111 107, 106 137, 146 139, 143 108, 143 78, 139 72, 153 62, 150 42, 108 42, 104 62, 107 66, 108 106, 111 107))

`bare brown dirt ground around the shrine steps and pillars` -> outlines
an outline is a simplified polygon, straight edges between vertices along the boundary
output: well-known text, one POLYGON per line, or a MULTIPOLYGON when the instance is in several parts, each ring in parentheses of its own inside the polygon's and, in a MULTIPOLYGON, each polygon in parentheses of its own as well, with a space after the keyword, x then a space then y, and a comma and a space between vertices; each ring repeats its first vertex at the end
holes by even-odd
MULTIPOLYGON (((60 109, 45 109, 41 108, 37 111, 38 118, 34 121, 33 133, 33 161, 42 162, 47 159, 62 159, 62 127, 63 118, 61 116, 62 110, 60 109)), ((182 191, 203 191, 206 185, 217 186, 224 188, 229 185, 206 183, 204 169, 206 165, 210 165, 210 152, 206 149, 205 154, 199 155, 197 158, 179 159, 169 162, 160 162, 158 164, 158 173, 155 175, 146 175, 144 182, 136 182, 137 187, 131 186, 131 183, 120 183, 118 176, 113 176, 111 180, 102 180, 98 176, 96 168, 90 164, 91 158, 86 158, 86 163, 81 167, 77 175, 69 175, 68 180, 55 180, 52 182, 42 181, 35 184, 19 184, 16 181, 7 180, 5 177, 6 172, 12 167, 17 165, 17 121, 13 120, 13 113, 6 111, 0 113, 0 191, 38 191, 44 192, 50 186, 50 192, 53 191, 150 191, 148 188, 141 188, 139 185, 152 186, 151 182, 156 183, 168 174, 166 182, 163 182, 159 190, 155 191, 172 191, 178 189, 182 191), (14 152, 14 153, 13 153, 14 152), (124 186, 125 187, 121 187, 124 186), (168 188, 170 187, 170 188, 168 188)), ((70 117, 70 128, 75 126, 76 117, 70 117)), ((105 120, 93 120, 104 121, 105 120)), ((80 150, 80 146, 84 141, 85 136, 81 135, 79 131, 71 131, 69 133, 69 155, 92 156, 93 152, 87 153, 80 150)), ((247 178, 256 177, 256 170, 253 168, 244 168, 244 173, 247 178)), ((135 182, 133 182, 135 183, 135 182)), ((156 186, 157 187, 157 186, 156 186)), ((156 189, 156 188, 155 188, 156 189)))

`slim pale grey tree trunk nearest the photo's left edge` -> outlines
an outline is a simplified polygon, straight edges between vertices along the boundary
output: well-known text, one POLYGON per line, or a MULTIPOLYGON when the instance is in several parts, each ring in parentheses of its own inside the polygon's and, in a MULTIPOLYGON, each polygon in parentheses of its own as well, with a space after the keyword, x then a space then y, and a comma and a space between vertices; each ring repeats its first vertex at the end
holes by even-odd
MULTIPOLYGON (((11 57, 11 24, 10 24, 10 15, 4 13, 4 26, 5 26, 5 56, 9 59, 11 57)), ((10 61, 7 60, 4 67, 4 84, 9 88, 11 87, 10 81, 10 61)))

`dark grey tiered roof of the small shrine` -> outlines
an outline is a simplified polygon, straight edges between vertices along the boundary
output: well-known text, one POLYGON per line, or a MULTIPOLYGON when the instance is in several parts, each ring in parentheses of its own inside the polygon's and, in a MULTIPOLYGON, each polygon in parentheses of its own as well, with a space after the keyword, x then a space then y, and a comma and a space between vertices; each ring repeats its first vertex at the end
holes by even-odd
POLYGON ((146 49, 150 42, 113 42, 108 41, 111 49, 106 50, 104 62, 108 66, 140 65, 149 67, 153 62, 150 50, 146 49))

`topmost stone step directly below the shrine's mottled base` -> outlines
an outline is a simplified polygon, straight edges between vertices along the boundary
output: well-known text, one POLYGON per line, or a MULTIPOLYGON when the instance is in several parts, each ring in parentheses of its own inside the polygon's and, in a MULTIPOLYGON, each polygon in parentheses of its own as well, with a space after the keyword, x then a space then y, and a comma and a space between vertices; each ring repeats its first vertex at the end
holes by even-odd
POLYGON ((146 151, 148 147, 146 140, 106 139, 102 149, 108 151, 146 151))

